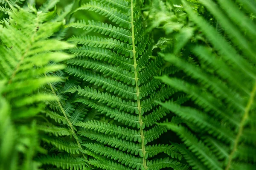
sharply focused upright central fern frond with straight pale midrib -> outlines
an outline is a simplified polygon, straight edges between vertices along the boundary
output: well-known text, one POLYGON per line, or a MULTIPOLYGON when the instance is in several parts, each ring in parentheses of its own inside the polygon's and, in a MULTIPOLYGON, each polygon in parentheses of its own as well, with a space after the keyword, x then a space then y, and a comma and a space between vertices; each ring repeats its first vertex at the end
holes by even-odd
MULTIPOLYGON (((166 132, 156 124, 166 110, 155 101, 175 93, 161 85, 158 75, 162 60, 151 57, 149 34, 143 29, 140 1, 96 0, 76 11, 89 10, 107 17, 112 24, 78 21, 71 27, 96 32, 69 39, 78 47, 70 50, 76 58, 67 61, 70 77, 87 85, 74 86, 66 93, 78 95, 76 103, 103 113, 115 123, 80 121, 74 123, 85 161, 104 170, 159 170, 185 168, 173 146, 154 144, 166 132), (85 83, 86 84, 86 83, 85 83), (166 157, 154 159, 158 153, 166 157), (169 156, 168 156, 169 155, 169 156)), ((81 151, 81 149, 79 149, 81 151)))

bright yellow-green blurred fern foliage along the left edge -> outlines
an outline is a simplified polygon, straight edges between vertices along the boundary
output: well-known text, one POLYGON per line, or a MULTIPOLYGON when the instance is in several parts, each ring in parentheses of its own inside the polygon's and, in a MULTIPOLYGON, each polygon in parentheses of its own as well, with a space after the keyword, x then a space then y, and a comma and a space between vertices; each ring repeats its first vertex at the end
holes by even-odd
POLYGON ((73 56, 60 51, 73 45, 50 38, 62 26, 47 20, 53 13, 12 10, 0 25, 0 169, 37 170, 41 163, 34 157, 46 150, 40 146, 35 116, 44 112, 45 102, 56 99, 41 89, 60 81, 44 74, 63 69, 58 62, 73 56))

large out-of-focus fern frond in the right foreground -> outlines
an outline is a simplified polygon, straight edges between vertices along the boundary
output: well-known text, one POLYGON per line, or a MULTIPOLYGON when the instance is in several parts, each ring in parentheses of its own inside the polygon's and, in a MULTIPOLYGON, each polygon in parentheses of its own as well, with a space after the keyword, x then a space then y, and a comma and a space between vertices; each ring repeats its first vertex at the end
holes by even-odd
POLYGON ((199 0, 225 31, 218 33, 183 1, 189 19, 207 37, 207 47, 191 48, 197 64, 183 57, 163 54, 188 75, 187 79, 160 79, 183 91, 195 103, 190 107, 174 102, 161 105, 175 113, 180 123, 165 123, 183 144, 177 145, 195 170, 256 169, 256 23, 243 10, 255 14, 253 1, 199 0), (242 23, 242 24, 241 24, 242 23), (189 81, 187 81, 189 80, 189 81))

